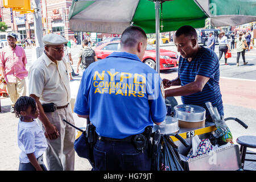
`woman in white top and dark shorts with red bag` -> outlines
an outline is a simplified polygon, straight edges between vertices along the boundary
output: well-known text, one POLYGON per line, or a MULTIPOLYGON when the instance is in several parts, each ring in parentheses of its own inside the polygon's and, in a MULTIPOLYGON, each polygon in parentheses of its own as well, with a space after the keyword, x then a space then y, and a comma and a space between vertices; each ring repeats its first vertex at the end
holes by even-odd
POLYGON ((221 57, 222 57, 222 54, 223 54, 223 52, 224 52, 225 65, 228 65, 228 63, 226 63, 226 61, 227 61, 228 59, 226 59, 226 57, 225 57, 226 52, 228 52, 228 50, 230 50, 228 38, 226 38, 225 32, 222 31, 222 32, 220 32, 220 34, 218 35, 218 53, 219 53, 218 61, 220 61, 220 59, 221 59, 221 57))

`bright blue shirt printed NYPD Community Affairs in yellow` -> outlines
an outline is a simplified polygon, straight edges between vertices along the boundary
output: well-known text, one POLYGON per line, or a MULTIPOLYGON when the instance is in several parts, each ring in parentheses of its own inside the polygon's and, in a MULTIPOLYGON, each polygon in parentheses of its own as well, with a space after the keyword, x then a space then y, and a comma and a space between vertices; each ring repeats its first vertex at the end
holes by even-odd
POLYGON ((89 115, 98 135, 125 138, 164 121, 163 94, 162 79, 154 69, 137 55, 113 52, 85 69, 74 112, 89 115))

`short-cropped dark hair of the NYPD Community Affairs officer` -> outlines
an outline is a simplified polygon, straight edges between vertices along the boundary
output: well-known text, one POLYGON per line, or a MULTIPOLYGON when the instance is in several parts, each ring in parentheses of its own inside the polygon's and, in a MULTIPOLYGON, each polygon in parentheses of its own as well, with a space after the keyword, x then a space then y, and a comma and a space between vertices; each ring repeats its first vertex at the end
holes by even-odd
POLYGON ((147 40, 147 35, 141 27, 130 26, 123 31, 121 36, 121 48, 122 47, 134 47, 142 39, 147 40))

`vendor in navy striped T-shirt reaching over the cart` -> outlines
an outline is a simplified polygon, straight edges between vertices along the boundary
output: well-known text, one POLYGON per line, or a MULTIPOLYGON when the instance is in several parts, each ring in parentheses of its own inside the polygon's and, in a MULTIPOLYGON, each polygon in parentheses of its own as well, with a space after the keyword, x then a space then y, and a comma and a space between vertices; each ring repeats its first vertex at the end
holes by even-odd
POLYGON ((211 121, 205 102, 212 102, 220 115, 224 115, 220 93, 220 64, 214 51, 199 46, 197 33, 191 26, 180 27, 174 39, 180 53, 178 76, 174 80, 163 79, 164 88, 179 86, 165 91, 166 97, 181 96, 183 104, 204 107, 207 121, 211 121))

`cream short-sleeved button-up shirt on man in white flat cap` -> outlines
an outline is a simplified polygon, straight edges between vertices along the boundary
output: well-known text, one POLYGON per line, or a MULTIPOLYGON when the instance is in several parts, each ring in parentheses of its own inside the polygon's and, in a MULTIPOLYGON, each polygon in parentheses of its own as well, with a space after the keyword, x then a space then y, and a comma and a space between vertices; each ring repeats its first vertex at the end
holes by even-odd
POLYGON ((28 92, 40 97, 41 104, 53 102, 65 106, 71 100, 67 67, 64 60, 55 64, 43 53, 28 71, 28 92))

